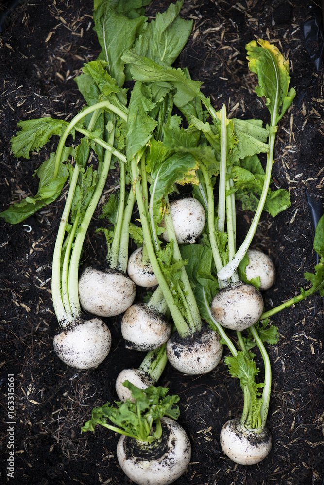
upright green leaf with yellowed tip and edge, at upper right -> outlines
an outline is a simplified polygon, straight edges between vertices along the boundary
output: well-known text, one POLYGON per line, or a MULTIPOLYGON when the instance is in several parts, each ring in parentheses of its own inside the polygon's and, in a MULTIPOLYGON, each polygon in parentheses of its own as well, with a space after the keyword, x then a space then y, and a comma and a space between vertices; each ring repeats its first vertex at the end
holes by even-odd
POLYGON ((289 61, 267 40, 258 39, 257 42, 253 40, 246 46, 249 69, 257 74, 256 94, 266 98, 273 124, 277 125, 296 95, 294 88, 288 92, 289 61))

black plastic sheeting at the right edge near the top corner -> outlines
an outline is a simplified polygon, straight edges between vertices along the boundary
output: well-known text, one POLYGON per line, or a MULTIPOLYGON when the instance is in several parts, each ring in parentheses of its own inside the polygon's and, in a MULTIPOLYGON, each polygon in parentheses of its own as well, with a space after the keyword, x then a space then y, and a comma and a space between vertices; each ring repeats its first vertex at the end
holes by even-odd
POLYGON ((303 34, 307 52, 318 71, 324 56, 323 11, 321 9, 314 10, 310 14, 310 18, 303 23, 303 34))

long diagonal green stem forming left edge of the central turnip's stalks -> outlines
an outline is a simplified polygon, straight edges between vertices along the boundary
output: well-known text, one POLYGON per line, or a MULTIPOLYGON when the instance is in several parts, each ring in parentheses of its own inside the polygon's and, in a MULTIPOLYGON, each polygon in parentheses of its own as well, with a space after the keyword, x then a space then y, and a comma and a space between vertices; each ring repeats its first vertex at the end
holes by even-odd
POLYGON ((168 284, 164 278, 159 262, 155 255, 152 238, 151 238, 151 230, 148 222, 147 212, 145 210, 143 194, 141 192, 141 187, 140 187, 139 172, 138 172, 136 158, 132 159, 131 169, 132 169, 133 187, 136 194, 137 206, 138 206, 139 216, 141 219, 141 225, 143 229, 143 237, 144 237, 147 252, 151 261, 153 272, 159 283, 159 286, 161 287, 164 298, 170 309, 171 316, 173 318, 174 324, 177 327, 180 337, 187 337, 188 335, 191 335, 190 329, 188 328, 188 325, 185 319, 181 315, 179 308, 174 302, 172 293, 168 287, 168 284))

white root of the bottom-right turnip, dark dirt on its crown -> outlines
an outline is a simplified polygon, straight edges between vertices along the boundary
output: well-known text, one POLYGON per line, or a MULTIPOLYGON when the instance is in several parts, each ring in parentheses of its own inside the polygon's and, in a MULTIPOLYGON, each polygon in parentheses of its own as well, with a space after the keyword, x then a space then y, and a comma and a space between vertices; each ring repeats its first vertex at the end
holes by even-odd
POLYGON ((235 463, 255 465, 270 453, 272 436, 267 428, 246 429, 234 419, 222 427, 220 442, 222 451, 235 463))

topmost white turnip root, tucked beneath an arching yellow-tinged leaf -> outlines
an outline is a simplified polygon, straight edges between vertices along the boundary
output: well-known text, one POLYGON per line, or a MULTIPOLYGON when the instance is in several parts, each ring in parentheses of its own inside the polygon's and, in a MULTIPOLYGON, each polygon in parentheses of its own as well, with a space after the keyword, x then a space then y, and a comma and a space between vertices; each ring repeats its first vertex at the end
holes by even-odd
MULTIPOLYGON (((170 212, 178 244, 196 242, 196 238, 203 232, 206 222, 205 210, 199 200, 188 197, 170 202, 170 212)), ((164 219, 160 226, 165 227, 164 219)), ((161 237, 169 242, 167 231, 164 231, 161 237)))

